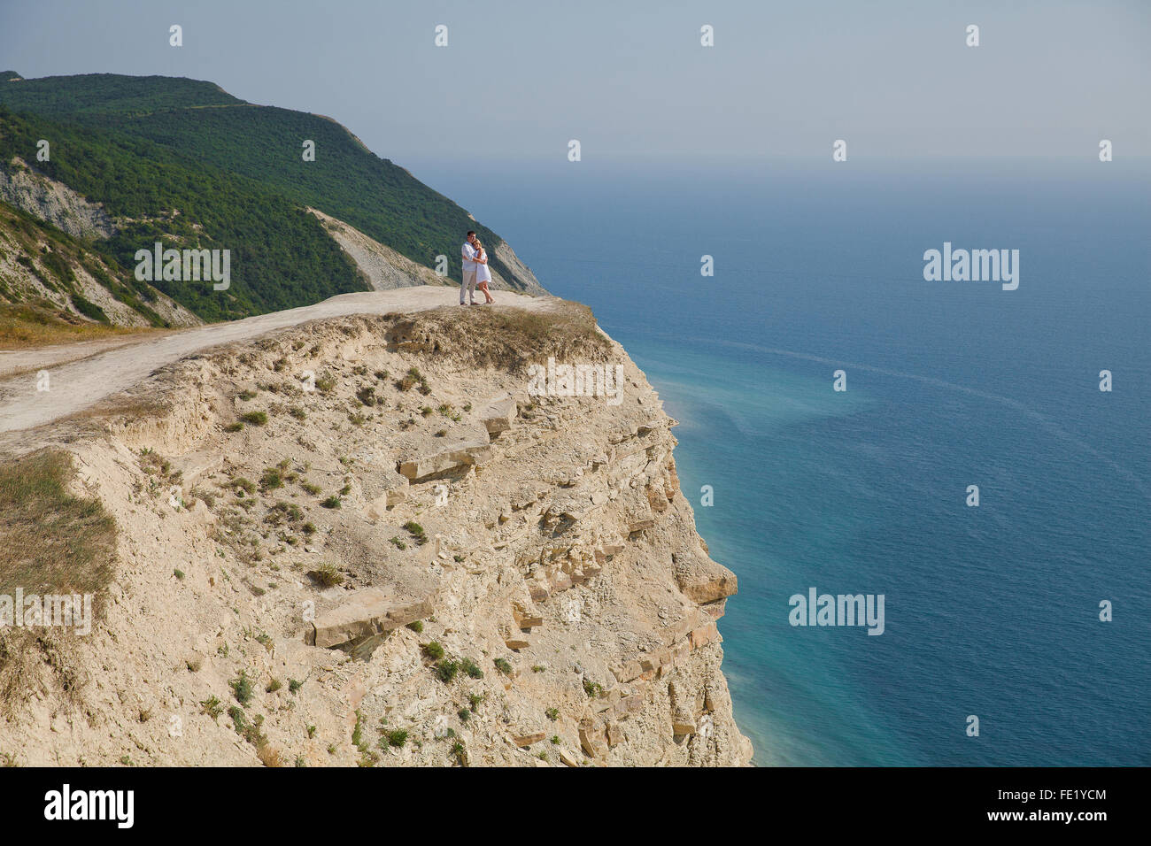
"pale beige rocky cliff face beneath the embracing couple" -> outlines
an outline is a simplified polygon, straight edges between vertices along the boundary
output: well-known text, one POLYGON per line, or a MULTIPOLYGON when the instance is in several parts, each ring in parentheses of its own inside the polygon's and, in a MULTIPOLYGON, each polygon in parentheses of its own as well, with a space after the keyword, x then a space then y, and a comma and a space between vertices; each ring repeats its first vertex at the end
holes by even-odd
POLYGON ((557 300, 318 321, 120 397, 69 447, 119 527, 104 619, 29 670, 0 746, 31 764, 747 763, 716 628, 735 578, 680 493, 674 421, 588 318, 557 300))

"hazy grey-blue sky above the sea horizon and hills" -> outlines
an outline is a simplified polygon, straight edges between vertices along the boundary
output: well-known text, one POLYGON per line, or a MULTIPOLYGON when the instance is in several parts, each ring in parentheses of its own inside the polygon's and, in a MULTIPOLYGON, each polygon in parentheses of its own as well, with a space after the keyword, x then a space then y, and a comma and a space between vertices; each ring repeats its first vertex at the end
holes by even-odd
POLYGON ((0 69, 211 79, 398 163, 1151 154, 1151 0, 0 0, 0 69))

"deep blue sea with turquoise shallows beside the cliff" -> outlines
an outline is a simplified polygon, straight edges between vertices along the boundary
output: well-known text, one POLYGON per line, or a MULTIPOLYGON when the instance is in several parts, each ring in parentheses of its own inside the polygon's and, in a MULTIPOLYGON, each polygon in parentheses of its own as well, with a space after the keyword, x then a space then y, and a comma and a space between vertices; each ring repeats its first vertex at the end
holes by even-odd
POLYGON ((680 421, 756 763, 1151 764, 1146 172, 405 165, 680 421), (944 242, 1017 249, 1019 289, 924 281, 944 242), (791 626, 810 587, 885 632, 791 626))

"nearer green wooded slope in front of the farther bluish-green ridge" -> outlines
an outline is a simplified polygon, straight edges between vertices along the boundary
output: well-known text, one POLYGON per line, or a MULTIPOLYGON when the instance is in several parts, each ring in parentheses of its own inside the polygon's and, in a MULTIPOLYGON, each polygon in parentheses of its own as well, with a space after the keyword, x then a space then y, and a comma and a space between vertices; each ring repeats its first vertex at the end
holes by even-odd
POLYGON ((315 218, 253 180, 120 132, 43 115, 0 114, 0 167, 10 172, 20 154, 45 176, 102 205, 117 231, 93 249, 124 267, 135 268, 136 252, 152 250, 155 242, 229 250, 227 290, 154 280, 206 320, 307 305, 366 287, 315 218), (33 160, 41 138, 51 139, 49 161, 33 160))

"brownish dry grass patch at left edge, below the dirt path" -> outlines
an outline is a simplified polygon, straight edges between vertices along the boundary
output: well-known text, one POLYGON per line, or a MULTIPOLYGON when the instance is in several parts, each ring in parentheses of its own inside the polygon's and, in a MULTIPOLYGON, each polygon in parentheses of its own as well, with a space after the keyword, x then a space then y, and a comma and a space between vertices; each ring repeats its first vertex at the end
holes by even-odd
MULTIPOLYGON (((93 594, 98 615, 113 574, 115 521, 96 500, 68 493, 71 457, 40 450, 0 463, 0 594, 93 594)), ((25 700, 47 665, 66 695, 79 671, 75 634, 49 627, 0 628, 0 709, 25 700)))

